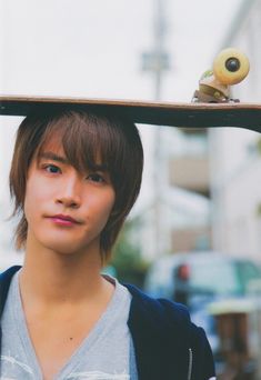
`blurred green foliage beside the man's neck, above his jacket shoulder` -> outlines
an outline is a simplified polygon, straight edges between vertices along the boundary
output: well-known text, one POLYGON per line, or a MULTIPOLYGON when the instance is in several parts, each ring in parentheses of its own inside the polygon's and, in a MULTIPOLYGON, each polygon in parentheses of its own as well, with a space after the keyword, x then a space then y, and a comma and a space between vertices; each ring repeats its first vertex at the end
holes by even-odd
POLYGON ((142 259, 139 244, 132 238, 139 227, 134 221, 126 222, 114 247, 111 264, 121 282, 142 287, 148 263, 142 259))

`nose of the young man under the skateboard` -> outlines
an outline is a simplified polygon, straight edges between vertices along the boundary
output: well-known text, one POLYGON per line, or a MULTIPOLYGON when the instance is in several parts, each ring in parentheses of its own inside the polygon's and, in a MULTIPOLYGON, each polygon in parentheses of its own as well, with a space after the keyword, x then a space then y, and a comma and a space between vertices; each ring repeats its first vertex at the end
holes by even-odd
POLYGON ((68 178, 61 183, 57 202, 68 208, 79 208, 81 204, 80 183, 77 178, 68 178))

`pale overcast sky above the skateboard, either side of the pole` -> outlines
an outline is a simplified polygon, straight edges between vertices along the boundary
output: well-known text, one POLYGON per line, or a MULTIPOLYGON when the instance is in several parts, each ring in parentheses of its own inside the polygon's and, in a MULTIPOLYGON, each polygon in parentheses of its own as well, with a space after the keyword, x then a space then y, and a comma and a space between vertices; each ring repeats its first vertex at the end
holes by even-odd
MULTIPOLYGON (((162 98, 190 101, 242 0, 165 0, 162 98)), ((1 92, 153 98, 141 54, 157 0, 1 0, 1 92)))

